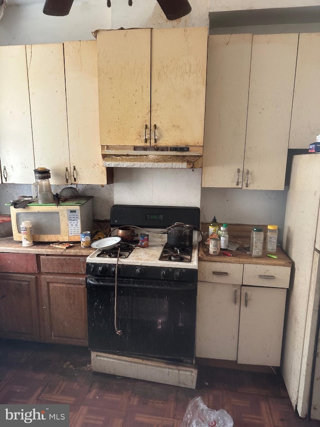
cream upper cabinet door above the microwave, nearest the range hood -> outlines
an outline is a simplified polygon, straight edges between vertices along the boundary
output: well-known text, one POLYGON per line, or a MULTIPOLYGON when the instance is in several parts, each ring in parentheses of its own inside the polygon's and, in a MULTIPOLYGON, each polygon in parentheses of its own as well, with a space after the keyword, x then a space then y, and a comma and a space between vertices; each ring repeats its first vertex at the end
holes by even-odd
POLYGON ((106 184, 99 140, 96 41, 67 42, 64 67, 72 184, 106 184))

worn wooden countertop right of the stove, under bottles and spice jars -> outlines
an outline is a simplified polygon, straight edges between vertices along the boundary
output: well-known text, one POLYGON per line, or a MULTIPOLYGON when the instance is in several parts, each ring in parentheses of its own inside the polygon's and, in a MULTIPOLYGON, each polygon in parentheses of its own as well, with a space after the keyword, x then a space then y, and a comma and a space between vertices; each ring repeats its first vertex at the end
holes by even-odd
MULTIPOLYGON (((263 228, 264 239, 266 236, 266 225, 255 225, 263 228)), ((262 265, 278 265, 284 267, 291 267, 290 259, 284 254, 281 248, 277 248, 276 255, 278 258, 270 258, 266 256, 263 250, 262 257, 252 257, 246 253, 249 250, 250 235, 252 225, 247 224, 228 224, 229 242, 234 242, 239 245, 235 251, 228 251, 232 256, 223 255, 220 251, 219 255, 210 255, 209 249, 205 245, 205 240, 208 238, 208 224, 201 224, 203 231, 202 242, 199 244, 199 261, 209 262, 224 262, 233 264, 262 264, 262 265)))

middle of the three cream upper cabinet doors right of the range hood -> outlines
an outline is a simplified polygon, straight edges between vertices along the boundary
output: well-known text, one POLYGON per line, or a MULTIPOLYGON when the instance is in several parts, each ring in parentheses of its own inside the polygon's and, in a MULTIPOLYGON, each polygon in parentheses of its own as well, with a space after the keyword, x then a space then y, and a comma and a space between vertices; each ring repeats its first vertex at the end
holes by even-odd
POLYGON ((283 190, 297 34, 254 35, 242 188, 283 190))

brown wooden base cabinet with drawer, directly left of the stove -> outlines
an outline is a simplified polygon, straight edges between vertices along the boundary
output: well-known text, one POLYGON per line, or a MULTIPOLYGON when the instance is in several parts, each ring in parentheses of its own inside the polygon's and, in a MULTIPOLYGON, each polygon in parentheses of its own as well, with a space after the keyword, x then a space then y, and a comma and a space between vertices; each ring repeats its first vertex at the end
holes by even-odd
POLYGON ((85 257, 41 255, 40 264, 42 339, 86 346, 85 257))

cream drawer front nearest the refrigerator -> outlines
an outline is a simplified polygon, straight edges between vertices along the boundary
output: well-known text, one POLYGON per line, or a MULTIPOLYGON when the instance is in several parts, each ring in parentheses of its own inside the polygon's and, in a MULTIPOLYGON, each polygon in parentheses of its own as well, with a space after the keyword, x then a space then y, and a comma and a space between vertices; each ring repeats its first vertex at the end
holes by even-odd
POLYGON ((244 264, 243 285, 288 288, 290 267, 244 264))

